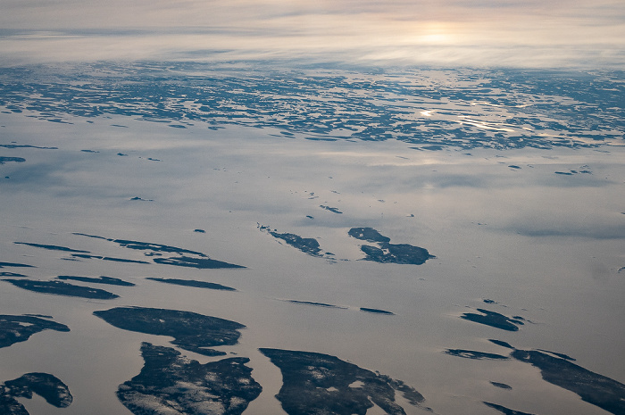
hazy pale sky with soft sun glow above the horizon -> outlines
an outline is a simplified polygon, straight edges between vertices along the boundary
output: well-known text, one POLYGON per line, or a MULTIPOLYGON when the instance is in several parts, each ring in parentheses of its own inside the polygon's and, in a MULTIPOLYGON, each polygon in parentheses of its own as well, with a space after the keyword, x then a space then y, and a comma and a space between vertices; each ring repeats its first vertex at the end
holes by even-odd
POLYGON ((622 0, 0 0, 0 65, 263 59, 624 68, 622 0))

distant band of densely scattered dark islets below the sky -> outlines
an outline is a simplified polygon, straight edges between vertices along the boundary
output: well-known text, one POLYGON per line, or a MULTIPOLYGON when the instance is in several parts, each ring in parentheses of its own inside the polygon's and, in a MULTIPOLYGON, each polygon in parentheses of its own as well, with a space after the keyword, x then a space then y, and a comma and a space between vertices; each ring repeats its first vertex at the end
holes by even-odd
POLYGON ((171 122, 176 128, 183 128, 180 121, 185 120, 210 129, 227 125, 279 129, 284 137, 395 139, 431 151, 593 147, 622 139, 622 91, 614 87, 621 77, 618 71, 480 69, 479 87, 475 87, 474 82, 423 83, 419 79, 429 76, 428 70, 362 73, 362 79, 354 79, 338 73, 316 71, 310 76, 307 71, 268 71, 257 63, 244 64, 245 73, 239 68, 226 74, 207 71, 202 62, 81 62, 55 71, 54 82, 48 81, 49 70, 44 66, 8 67, 0 70, 4 79, 0 96, 11 112, 28 112, 54 122, 115 114, 171 122), (177 70, 171 71, 172 66, 177 70), (85 74, 89 74, 88 81, 76 84, 85 74), (321 90, 326 94, 323 100, 318 97, 321 90), (509 93, 494 98, 499 106, 522 107, 503 113, 498 122, 488 122, 487 129, 478 128, 470 117, 478 116, 479 104, 495 90, 509 93), (475 110, 467 107, 463 119, 414 116, 440 97, 478 105, 475 110), (579 104, 560 105, 560 100, 579 104), (551 115, 554 103, 558 104, 558 120, 551 115), (286 112, 288 117, 284 117, 286 112), (341 114, 338 119, 337 114, 341 114), (532 128, 524 129, 527 125, 532 128))

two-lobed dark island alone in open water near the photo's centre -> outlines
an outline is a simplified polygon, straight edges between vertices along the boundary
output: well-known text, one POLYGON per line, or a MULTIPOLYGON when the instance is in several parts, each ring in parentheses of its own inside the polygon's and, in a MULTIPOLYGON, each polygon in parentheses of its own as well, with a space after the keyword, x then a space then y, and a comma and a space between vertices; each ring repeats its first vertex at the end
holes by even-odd
POLYGON ((419 246, 391 244, 388 237, 380 235, 373 228, 351 228, 348 234, 356 239, 378 243, 378 246, 361 246, 361 251, 366 255, 364 257, 366 261, 421 265, 431 258, 436 258, 434 255, 430 255, 427 249, 419 246))

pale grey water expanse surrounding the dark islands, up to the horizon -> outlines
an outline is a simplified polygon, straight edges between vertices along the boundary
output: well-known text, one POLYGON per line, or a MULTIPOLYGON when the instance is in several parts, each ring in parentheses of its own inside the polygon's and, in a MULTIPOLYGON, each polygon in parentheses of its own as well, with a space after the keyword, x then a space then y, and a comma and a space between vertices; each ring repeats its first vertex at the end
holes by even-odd
MULTIPOLYGON (((414 387, 437 414, 497 412, 483 402, 532 414, 607 413, 522 361, 445 352, 507 356, 488 341, 496 339, 564 353, 625 382, 625 128, 619 93, 610 92, 622 91, 621 75, 596 75, 605 95, 591 96, 561 88, 587 79, 559 74, 544 90, 546 75, 469 70, 202 68, 102 63, 74 81, 61 69, 3 70, 0 261, 31 266, 5 266, 26 277, 4 278, 136 284, 66 281, 119 295, 98 300, 2 282, 0 313, 52 316, 71 328, 0 349, 0 381, 46 372, 74 396, 64 409, 21 399, 29 413, 130 413, 115 393, 143 367, 141 342, 174 345, 92 314, 118 306, 245 325, 238 344, 216 349, 250 359, 262 393, 246 414, 285 413, 274 397, 280 370, 259 348, 377 370, 414 387), (362 245, 388 250, 349 236, 361 227, 434 257, 366 261, 362 245), (320 254, 276 234, 313 238, 320 254), (200 253, 245 268, 154 261, 200 253), (515 317, 518 330, 461 318, 477 309, 515 317)), ((203 363, 221 359, 177 350, 203 363)))

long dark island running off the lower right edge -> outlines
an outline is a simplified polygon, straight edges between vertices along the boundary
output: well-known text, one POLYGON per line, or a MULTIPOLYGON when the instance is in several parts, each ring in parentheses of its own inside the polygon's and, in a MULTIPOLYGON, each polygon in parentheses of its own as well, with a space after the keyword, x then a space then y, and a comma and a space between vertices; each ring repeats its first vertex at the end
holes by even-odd
POLYGON ((625 414, 625 385, 620 382, 546 353, 515 350, 511 356, 537 367, 543 379, 579 394, 582 401, 614 415, 625 414))

